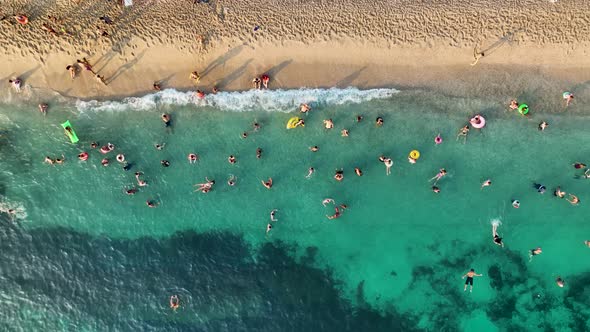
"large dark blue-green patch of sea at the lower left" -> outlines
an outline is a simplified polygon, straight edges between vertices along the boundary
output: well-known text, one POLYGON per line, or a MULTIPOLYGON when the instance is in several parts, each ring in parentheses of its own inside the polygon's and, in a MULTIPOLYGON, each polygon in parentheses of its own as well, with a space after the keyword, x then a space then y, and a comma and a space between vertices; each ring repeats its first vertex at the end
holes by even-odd
MULTIPOLYGON (((411 316, 366 302, 354 308, 332 273, 297 263, 295 249, 267 243, 253 259, 241 237, 225 233, 113 240, 3 227, 0 291, 12 305, 0 313, 0 329, 419 330, 411 316), (172 294, 180 296, 177 312, 168 307, 172 294), (35 319, 22 315, 25 307, 35 319)), ((308 249, 308 261, 315 252, 308 249)))

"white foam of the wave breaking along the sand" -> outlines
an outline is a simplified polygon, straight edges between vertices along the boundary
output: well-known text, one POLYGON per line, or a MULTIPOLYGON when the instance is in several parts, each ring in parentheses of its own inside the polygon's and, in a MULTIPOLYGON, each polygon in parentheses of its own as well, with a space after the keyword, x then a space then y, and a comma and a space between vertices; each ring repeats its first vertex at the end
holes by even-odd
POLYGON ((312 107, 329 105, 358 104, 374 99, 390 98, 399 91, 396 89, 330 88, 298 90, 249 90, 243 92, 219 92, 198 99, 194 92, 181 92, 167 89, 143 97, 129 97, 122 101, 77 101, 76 108, 85 111, 148 111, 159 105, 212 106, 222 111, 242 112, 265 110, 272 112, 292 112, 302 103, 312 107))

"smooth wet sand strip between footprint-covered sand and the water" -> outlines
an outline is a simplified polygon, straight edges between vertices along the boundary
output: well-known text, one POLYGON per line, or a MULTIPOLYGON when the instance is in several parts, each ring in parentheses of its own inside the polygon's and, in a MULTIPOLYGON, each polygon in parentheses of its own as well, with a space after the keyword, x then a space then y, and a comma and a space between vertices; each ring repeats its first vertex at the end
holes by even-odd
MULTIPOLYGON (((93 75, 82 70, 71 80, 65 66, 75 63, 76 59, 64 54, 52 54, 44 64, 29 57, 12 58, 0 67, 4 72, 1 95, 6 100, 8 93, 14 94, 6 82, 11 77, 20 77, 25 85, 64 97, 99 101, 152 93, 155 81, 161 82, 162 89, 179 91, 201 89, 210 93, 214 86, 221 91, 243 91, 251 89, 253 77, 264 73, 271 78, 270 89, 428 88, 462 96, 518 95, 527 89, 538 89, 539 78, 554 81, 553 84, 569 90, 575 90, 574 86, 583 87, 583 83, 590 80, 590 73, 584 70, 590 68, 590 58, 584 57, 590 45, 574 50, 559 45, 550 48, 505 47, 471 66, 473 54, 468 48, 396 47, 383 50, 378 45, 361 48, 353 41, 307 46, 289 44, 227 44, 197 61, 183 51, 153 46, 134 52, 132 59, 116 58, 112 54, 88 56, 94 70, 105 76, 108 86, 103 86, 93 75), (8 74, 7 68, 11 70, 8 74), (201 76, 198 85, 189 79, 190 72, 195 70, 201 76)), ((585 94, 586 89, 578 90, 572 92, 577 96, 585 94)))

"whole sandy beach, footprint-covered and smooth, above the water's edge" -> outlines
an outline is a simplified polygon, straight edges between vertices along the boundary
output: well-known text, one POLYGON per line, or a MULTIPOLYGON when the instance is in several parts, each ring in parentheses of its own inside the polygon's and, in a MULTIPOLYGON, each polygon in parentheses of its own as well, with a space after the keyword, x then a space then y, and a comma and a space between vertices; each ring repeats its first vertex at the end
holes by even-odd
POLYGON ((196 89, 195 70, 205 92, 248 89, 268 73, 271 88, 463 95, 576 88, 578 97, 590 96, 587 1, 135 0, 123 8, 114 0, 8 0, 1 10, 8 16, 0 21, 5 101, 14 77, 30 87, 29 97, 50 90, 103 99, 144 94, 154 81, 196 89), (17 13, 30 22, 16 23, 17 13), (472 66, 478 52, 485 56, 472 66), (83 70, 70 79, 66 66, 82 57, 108 86, 83 70))

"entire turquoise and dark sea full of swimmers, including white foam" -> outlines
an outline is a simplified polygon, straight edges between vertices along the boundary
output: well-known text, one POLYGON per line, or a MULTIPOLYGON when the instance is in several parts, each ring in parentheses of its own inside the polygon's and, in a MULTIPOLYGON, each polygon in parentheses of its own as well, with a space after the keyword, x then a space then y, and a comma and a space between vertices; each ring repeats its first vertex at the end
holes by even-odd
POLYGON ((2 106, 2 208, 17 209, 13 221, 3 215, 0 239, 0 295, 9 307, 3 324, 89 331, 589 328, 590 249, 583 242, 590 239, 590 180, 576 179, 583 172, 571 166, 588 156, 588 117, 534 110, 524 119, 496 100, 424 91, 208 98, 194 105, 168 91, 120 103, 52 104, 46 117, 35 106, 2 106), (308 100, 314 110, 305 128, 286 130, 308 100), (455 136, 474 110, 488 125, 463 144, 455 136), (172 115, 171 129, 162 112, 172 115), (322 126, 327 118, 332 131, 322 126), (66 119, 80 144, 63 135, 66 119), (541 120, 550 123, 544 132, 541 120), (343 128, 349 137, 340 136, 343 128), (439 133, 444 142, 436 146, 439 133), (115 144, 108 167, 92 141, 115 144), (320 151, 309 151, 314 145, 320 151), (412 165, 414 149, 421 157, 412 165), (82 151, 88 161, 77 160, 82 151), (191 152, 198 163, 188 163, 191 152), (125 154, 130 171, 116 153, 125 154), (62 154, 63 165, 43 163, 62 154), (382 154, 394 161, 389 176, 382 154), (171 166, 163 168, 162 159, 171 166), (309 167, 316 172, 307 179, 309 167), (442 167, 448 175, 435 194, 428 179, 442 167), (332 178, 339 168, 342 182, 332 178), (127 196, 135 171, 149 185, 127 196), (230 175, 234 187, 226 184, 230 175), (216 180, 213 190, 193 192, 205 177, 216 180), (260 183, 268 177, 271 190, 260 183), (480 189, 488 178, 492 186, 480 189), (534 183, 547 192, 537 193, 534 183), (554 197, 558 185, 581 204, 554 197), (321 204, 325 198, 348 209, 328 220, 333 207, 321 204), (160 205, 150 209, 148 199, 160 205), (273 209, 278 221, 267 234, 273 209), (493 219, 502 221, 505 248, 492 242, 493 219), (529 262, 535 247, 543 253, 529 262), (470 268, 484 275, 473 293, 463 292, 461 279, 470 268), (555 285, 558 276, 564 288, 555 285), (172 294, 181 299, 176 312, 168 307, 172 294))

